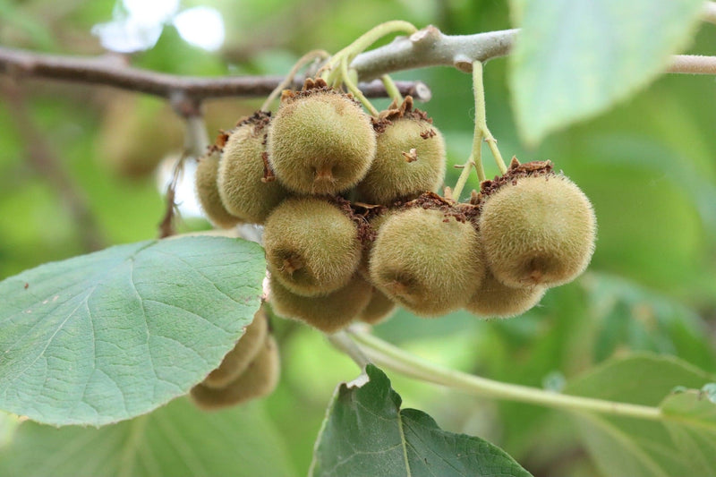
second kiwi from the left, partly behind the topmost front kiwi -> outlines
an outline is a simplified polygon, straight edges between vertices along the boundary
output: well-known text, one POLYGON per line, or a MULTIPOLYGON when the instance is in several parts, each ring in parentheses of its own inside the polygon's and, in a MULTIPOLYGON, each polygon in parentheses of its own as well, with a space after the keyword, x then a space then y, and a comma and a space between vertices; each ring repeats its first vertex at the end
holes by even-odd
POLYGON ((264 128, 251 123, 234 129, 218 168, 218 192, 226 210, 252 224, 263 224, 268 214, 289 196, 281 183, 261 182, 264 132, 264 128))

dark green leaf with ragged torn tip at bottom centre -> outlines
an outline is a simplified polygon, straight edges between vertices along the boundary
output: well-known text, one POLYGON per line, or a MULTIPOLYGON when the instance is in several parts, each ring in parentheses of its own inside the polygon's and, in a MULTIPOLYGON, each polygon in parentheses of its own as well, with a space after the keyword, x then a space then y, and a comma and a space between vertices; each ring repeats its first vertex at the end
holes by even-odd
POLYGON ((426 413, 400 409, 388 377, 372 365, 341 384, 328 407, 312 476, 529 476, 489 442, 446 432, 426 413))

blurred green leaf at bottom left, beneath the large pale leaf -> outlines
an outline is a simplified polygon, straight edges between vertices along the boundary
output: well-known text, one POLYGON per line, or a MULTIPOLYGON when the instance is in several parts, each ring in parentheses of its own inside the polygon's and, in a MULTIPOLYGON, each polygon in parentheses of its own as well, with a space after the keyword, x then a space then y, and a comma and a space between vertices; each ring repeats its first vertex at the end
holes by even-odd
POLYGON ((23 422, 0 475, 295 475, 260 405, 203 413, 177 399, 132 421, 88 429, 23 422))

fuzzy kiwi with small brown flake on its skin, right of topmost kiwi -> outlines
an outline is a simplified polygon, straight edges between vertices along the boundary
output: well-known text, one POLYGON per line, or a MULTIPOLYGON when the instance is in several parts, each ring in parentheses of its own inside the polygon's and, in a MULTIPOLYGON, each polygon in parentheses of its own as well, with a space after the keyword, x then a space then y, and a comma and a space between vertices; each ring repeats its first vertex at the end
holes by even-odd
POLYGON ((427 121, 400 118, 380 132, 378 149, 368 174, 358 184, 362 200, 390 205, 397 199, 413 199, 436 191, 445 178, 445 140, 427 121), (421 137, 421 133, 435 135, 421 137), (415 149, 417 160, 406 160, 415 149))

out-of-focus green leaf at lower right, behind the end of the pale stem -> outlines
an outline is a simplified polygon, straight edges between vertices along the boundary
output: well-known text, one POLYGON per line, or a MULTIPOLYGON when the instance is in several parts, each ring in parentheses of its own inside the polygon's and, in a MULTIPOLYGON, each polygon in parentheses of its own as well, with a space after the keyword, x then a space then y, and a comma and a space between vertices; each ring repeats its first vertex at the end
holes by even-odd
POLYGON ((696 402, 691 390, 671 393, 677 387, 702 388, 713 380, 676 358, 644 354, 607 362, 575 380, 565 393, 661 405, 659 421, 575 413, 581 438, 605 475, 706 476, 716 475, 714 405, 705 398, 707 403, 696 402))

